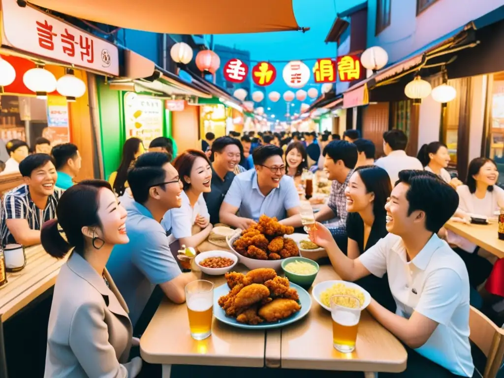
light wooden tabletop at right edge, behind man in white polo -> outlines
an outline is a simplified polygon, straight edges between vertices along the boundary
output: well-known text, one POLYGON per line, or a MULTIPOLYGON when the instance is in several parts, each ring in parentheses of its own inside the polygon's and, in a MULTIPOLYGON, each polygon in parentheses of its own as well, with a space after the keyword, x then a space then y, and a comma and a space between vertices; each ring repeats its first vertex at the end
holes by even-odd
POLYGON ((504 240, 500 240, 497 236, 496 222, 490 224, 465 224, 448 221, 445 228, 465 237, 499 259, 504 258, 504 240))

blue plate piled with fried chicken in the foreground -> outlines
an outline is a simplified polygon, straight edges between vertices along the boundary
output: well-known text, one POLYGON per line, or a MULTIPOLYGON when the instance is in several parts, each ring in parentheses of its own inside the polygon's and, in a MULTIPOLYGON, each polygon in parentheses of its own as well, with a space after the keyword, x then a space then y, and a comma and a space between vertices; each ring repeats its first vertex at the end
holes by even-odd
POLYGON ((238 328, 278 328, 303 318, 311 297, 302 287, 259 268, 247 274, 229 272, 227 283, 214 289, 214 316, 238 328))

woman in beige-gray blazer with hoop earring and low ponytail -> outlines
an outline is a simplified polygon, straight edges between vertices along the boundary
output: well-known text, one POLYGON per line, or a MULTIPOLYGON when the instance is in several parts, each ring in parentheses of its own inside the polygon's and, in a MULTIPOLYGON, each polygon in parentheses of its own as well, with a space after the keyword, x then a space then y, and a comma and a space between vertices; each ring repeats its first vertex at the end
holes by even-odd
POLYGON ((129 242, 127 213, 108 182, 86 180, 61 196, 56 215, 42 228, 42 246, 58 259, 73 250, 54 286, 44 376, 135 377, 142 360, 128 362, 128 307, 105 269, 112 247, 129 242))

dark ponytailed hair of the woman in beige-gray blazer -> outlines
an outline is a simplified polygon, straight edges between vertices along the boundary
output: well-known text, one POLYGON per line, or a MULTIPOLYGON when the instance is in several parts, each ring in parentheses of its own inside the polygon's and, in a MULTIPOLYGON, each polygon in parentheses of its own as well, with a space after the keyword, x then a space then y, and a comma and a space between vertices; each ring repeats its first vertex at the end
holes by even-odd
POLYGON ((101 188, 112 191, 107 181, 84 180, 61 195, 57 219, 45 222, 40 233, 42 246, 49 255, 62 259, 72 248, 79 254, 84 252, 82 227, 100 225, 98 194, 101 188))

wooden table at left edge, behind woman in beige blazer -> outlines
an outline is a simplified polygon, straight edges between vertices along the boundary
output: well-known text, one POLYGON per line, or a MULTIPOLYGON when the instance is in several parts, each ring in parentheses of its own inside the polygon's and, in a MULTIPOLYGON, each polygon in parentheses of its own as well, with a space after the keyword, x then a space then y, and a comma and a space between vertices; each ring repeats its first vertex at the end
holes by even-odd
POLYGON ((66 259, 51 257, 42 245, 25 249, 26 266, 7 274, 7 285, 0 288, 0 376, 7 377, 3 323, 28 305, 56 282, 59 269, 66 259))

